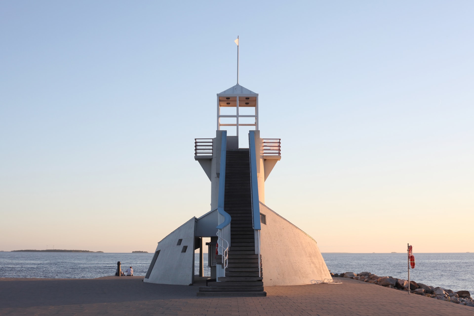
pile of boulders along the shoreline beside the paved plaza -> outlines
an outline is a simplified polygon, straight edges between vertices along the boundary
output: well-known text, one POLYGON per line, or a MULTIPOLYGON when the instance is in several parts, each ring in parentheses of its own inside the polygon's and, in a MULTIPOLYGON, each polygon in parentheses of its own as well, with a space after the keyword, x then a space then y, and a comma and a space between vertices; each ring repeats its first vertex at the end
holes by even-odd
POLYGON ((345 272, 341 274, 332 273, 331 276, 334 278, 350 278, 354 280, 364 281, 367 283, 373 283, 381 285, 391 289, 398 289, 401 291, 410 290, 419 295, 426 296, 428 298, 441 299, 447 302, 453 302, 456 304, 463 304, 466 306, 474 307, 473 298, 471 298, 471 293, 469 291, 453 291, 450 289, 443 289, 440 287, 434 288, 432 286, 417 283, 415 281, 410 281, 410 285, 407 280, 397 279, 393 277, 379 277, 378 275, 372 274, 370 272, 360 272, 358 274, 354 272, 345 272))

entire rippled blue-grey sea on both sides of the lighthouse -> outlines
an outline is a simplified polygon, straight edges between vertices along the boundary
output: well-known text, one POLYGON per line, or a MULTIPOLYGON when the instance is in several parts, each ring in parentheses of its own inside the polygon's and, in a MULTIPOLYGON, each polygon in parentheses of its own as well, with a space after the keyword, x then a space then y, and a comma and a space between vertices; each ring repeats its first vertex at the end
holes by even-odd
MULTIPOLYGON (((322 253, 333 273, 363 271, 378 276, 408 278, 406 253, 322 253)), ((468 290, 474 294, 474 253, 414 253, 415 268, 410 280, 434 287, 468 290)), ((134 275, 145 275, 153 253, 23 253, 0 252, 0 278, 99 278, 133 267, 134 275)), ((199 274, 199 255, 194 258, 199 274)), ((204 275, 210 276, 208 254, 204 254, 204 275)), ((284 258, 282 258, 284 260, 284 258)))

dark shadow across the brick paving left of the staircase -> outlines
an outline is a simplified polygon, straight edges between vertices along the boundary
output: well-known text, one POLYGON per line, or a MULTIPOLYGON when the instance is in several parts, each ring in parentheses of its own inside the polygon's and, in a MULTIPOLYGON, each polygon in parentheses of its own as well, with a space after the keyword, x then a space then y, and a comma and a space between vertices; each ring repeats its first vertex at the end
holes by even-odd
POLYGON ((0 307, 35 307, 97 304, 161 299, 197 298, 206 278, 192 286, 143 282, 142 278, 90 280, 18 280, 0 282, 0 307))

